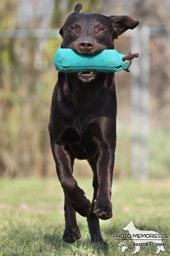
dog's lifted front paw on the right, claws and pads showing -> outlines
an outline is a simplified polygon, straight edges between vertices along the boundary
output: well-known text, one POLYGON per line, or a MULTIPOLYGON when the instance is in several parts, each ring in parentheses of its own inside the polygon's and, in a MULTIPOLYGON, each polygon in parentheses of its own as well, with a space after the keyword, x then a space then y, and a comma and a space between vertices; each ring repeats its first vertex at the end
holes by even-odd
POLYGON ((99 219, 110 219, 112 218, 112 203, 111 202, 101 202, 98 199, 94 201, 95 207, 94 207, 94 214, 99 218, 99 219))

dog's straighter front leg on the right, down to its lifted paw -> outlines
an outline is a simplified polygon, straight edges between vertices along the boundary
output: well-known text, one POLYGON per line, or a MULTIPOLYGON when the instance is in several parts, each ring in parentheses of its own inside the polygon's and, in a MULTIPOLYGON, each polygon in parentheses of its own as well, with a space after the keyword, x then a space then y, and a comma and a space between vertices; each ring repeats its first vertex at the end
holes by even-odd
POLYGON ((98 146, 98 162, 97 162, 97 176, 98 176, 98 192, 94 207, 94 214, 100 219, 110 219, 112 217, 112 203, 111 186, 114 168, 115 154, 111 146, 98 146))

